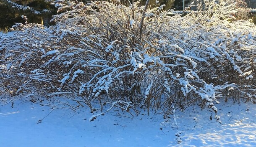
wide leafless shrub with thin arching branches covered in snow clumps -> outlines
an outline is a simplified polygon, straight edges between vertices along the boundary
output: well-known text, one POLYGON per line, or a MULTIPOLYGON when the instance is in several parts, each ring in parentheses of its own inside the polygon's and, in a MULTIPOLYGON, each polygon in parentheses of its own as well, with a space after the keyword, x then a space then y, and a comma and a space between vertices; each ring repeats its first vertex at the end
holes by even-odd
POLYGON ((139 106, 168 115, 172 103, 181 110, 200 104, 221 122, 218 99, 255 101, 256 26, 235 21, 233 0, 199 8, 181 17, 160 6, 146 10, 141 24, 144 6, 136 3, 79 3, 55 15, 50 28, 26 25, 0 39, 0 91, 37 102, 40 95, 48 105, 60 95, 77 102, 58 101, 71 109, 98 101, 129 113, 139 106))

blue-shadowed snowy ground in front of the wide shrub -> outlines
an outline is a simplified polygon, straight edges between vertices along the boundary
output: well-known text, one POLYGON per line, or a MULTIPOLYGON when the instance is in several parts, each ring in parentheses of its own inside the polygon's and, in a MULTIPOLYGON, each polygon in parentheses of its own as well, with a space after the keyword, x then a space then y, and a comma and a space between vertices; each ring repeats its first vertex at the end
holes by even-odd
POLYGON ((173 116, 163 119, 162 114, 148 116, 141 110, 132 117, 113 109, 90 122, 92 113, 86 108, 50 113, 47 106, 16 100, 13 108, 0 106, 0 147, 255 147, 256 106, 232 100, 224 103, 216 105, 223 124, 209 119, 209 109, 177 110, 182 132, 178 144, 173 116))

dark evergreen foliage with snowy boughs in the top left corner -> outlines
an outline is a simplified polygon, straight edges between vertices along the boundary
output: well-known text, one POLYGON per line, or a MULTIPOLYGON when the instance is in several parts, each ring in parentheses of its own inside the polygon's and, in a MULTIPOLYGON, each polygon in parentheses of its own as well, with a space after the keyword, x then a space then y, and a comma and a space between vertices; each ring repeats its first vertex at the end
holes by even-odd
POLYGON ((45 0, 1 0, 0 30, 6 31, 15 23, 24 23, 21 15, 26 15, 29 23, 47 25, 52 15, 56 14, 56 8, 45 0))

